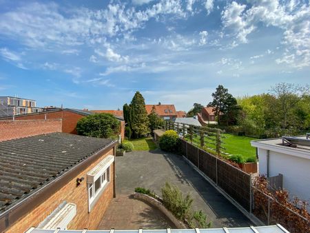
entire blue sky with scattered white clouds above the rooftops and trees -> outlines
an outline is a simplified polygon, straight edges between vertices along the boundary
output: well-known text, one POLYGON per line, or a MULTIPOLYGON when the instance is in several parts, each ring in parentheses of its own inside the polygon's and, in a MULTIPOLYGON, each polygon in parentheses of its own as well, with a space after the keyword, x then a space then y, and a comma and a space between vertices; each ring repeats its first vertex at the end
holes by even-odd
POLYGON ((0 0, 0 95, 37 105, 189 110, 310 83, 309 1, 0 0))

